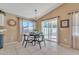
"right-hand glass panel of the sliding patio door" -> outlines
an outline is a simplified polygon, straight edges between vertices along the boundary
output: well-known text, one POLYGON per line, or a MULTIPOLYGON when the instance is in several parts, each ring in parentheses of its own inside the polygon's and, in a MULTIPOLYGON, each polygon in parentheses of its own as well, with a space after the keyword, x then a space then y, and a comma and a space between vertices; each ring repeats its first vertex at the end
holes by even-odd
POLYGON ((57 41, 57 19, 49 20, 49 40, 57 41))

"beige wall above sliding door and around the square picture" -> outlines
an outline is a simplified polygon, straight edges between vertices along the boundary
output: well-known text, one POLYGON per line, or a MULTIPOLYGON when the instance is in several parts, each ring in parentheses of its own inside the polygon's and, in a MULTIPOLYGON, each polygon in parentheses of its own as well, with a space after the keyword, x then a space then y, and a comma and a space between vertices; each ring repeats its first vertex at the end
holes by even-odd
MULTIPOLYGON (((56 8, 55 10, 51 11, 50 13, 48 13, 47 15, 43 16, 42 18, 39 19, 39 21, 37 22, 37 29, 41 28, 41 21, 45 20, 45 19, 49 19, 52 17, 56 17, 56 16, 60 16, 59 21, 60 20, 64 20, 64 19, 69 19, 69 12, 72 11, 77 11, 79 10, 79 4, 77 3, 65 3, 62 6, 56 8)), ((64 44, 65 46, 70 47, 71 46, 71 39, 70 39, 70 29, 69 28, 59 28, 60 30, 60 43, 64 44)))

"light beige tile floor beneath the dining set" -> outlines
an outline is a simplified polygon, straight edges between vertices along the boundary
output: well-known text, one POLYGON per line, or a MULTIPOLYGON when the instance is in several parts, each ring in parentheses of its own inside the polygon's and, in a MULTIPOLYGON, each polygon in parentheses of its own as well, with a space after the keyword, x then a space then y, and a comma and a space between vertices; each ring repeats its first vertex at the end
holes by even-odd
POLYGON ((6 45, 0 49, 0 55, 78 55, 79 50, 58 46, 56 43, 47 42, 46 47, 42 43, 39 46, 32 46, 30 43, 24 48, 21 43, 6 45))

